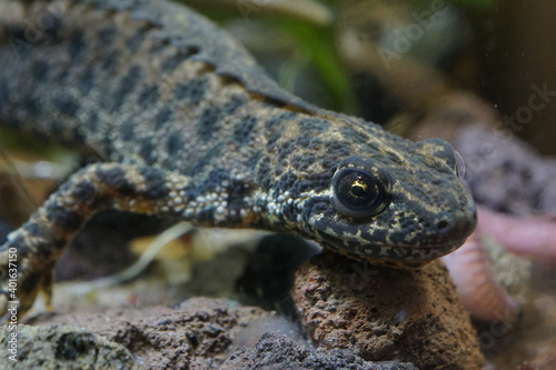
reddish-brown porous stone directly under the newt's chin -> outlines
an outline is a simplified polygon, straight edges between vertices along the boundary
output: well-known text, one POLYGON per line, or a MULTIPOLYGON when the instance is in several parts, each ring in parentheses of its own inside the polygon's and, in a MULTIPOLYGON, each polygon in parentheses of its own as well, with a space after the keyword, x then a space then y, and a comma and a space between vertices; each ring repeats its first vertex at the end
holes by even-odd
POLYGON ((324 253, 297 272, 294 300, 314 343, 419 369, 480 369, 477 333, 440 261, 398 271, 324 253))

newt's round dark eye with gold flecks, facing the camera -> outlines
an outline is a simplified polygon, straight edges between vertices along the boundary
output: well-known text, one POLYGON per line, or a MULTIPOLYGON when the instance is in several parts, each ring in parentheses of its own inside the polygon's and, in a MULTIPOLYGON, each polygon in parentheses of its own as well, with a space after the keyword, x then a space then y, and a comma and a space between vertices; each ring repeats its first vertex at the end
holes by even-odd
POLYGON ((339 169, 332 179, 332 207, 355 219, 380 213, 390 203, 389 182, 384 182, 361 168, 339 169))

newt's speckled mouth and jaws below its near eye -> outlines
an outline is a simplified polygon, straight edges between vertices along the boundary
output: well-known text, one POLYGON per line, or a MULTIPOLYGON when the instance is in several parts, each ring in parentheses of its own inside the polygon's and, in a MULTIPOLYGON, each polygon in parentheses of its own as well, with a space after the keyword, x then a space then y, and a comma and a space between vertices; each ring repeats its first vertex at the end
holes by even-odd
POLYGON ((311 209, 306 224, 312 238, 338 253, 418 267, 463 246, 477 222, 473 202, 444 212, 415 214, 404 214, 399 208, 390 207, 376 217, 357 221, 320 203, 311 209))

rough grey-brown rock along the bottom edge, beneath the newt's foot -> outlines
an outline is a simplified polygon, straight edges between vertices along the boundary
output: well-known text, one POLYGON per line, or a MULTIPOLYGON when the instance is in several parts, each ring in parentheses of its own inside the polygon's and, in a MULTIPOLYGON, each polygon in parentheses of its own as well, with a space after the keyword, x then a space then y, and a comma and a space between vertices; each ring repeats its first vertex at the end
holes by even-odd
MULTIPOLYGON (((32 323, 38 326, 20 326, 16 369, 417 369, 367 362, 349 350, 311 348, 284 318, 207 298, 175 309, 44 313, 32 323)), ((11 369, 2 330, 0 369, 11 369)))

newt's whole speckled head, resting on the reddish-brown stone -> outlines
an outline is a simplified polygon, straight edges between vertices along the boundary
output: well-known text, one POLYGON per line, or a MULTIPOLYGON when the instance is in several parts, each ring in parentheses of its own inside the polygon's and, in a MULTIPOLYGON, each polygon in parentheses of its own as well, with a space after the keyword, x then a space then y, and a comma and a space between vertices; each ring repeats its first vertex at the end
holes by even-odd
POLYGON ((285 190, 280 212, 291 214, 306 237, 348 257, 419 267, 456 250, 474 231, 475 202, 446 141, 411 142, 359 124, 326 133, 318 146, 317 138, 297 139, 325 164, 290 160, 275 187, 285 190))

